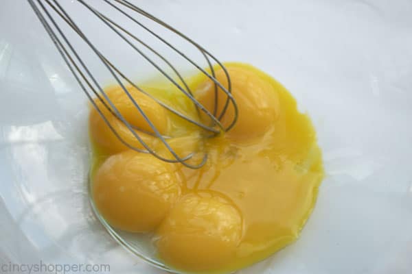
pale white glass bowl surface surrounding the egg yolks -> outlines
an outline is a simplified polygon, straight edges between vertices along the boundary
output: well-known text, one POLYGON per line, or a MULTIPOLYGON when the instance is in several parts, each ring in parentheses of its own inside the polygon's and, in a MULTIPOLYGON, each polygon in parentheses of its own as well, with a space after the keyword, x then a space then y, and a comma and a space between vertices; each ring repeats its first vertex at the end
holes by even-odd
MULTIPOLYGON (((411 273, 411 1, 134 2, 273 75, 317 127, 327 176, 301 238, 240 273, 411 273)), ((86 102, 27 2, 3 0, 0 263, 161 273, 91 214, 86 102)))

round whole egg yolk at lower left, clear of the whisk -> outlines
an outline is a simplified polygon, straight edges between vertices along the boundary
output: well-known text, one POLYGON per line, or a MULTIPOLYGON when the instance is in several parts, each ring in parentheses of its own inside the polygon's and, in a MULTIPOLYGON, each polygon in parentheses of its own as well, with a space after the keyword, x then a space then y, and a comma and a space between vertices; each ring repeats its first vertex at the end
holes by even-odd
POLYGON ((171 166, 150 154, 107 158, 93 178, 93 199, 106 221, 128 232, 150 232, 181 195, 171 166))

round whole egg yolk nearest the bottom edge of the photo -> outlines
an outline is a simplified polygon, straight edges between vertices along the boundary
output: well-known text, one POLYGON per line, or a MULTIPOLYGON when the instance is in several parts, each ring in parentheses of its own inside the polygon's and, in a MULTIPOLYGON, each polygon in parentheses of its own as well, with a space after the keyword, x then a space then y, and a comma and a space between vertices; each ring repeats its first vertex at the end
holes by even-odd
POLYGON ((235 256, 242 217, 229 201, 206 194, 185 196, 157 230, 160 256, 177 268, 206 271, 235 256))

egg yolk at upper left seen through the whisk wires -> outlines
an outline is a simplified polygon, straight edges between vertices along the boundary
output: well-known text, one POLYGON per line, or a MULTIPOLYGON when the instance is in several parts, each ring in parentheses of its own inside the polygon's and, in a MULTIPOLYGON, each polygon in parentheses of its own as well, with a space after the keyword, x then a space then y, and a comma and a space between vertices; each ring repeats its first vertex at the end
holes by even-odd
MULTIPOLYGON (((146 114, 148 119, 150 119, 153 125, 155 125, 160 134, 168 134, 169 120, 165 108, 159 105, 159 103, 153 101, 150 97, 148 97, 148 95, 144 95, 139 92, 136 88, 128 87, 128 91, 130 92, 130 95, 132 95, 133 99, 135 99, 141 110, 143 110, 144 114, 146 114)), ((137 110, 136 106, 133 104, 133 101, 130 100, 128 95, 126 95, 126 92, 124 92, 121 87, 109 88, 106 90, 106 95, 131 126, 142 129, 144 132, 153 133, 152 127, 150 127, 150 125, 146 122, 144 116, 142 116, 137 110)), ((106 100, 104 101, 106 102, 106 100)), ((96 99, 95 103, 102 111, 102 114, 106 117, 108 123, 111 124, 115 132, 119 134, 119 137, 122 138, 126 144, 129 144, 137 149, 144 149, 139 140, 137 140, 135 135, 130 132, 130 129, 126 127, 123 121, 107 110, 100 100, 96 99)), ((124 142, 119 140, 111 128, 106 125, 106 121, 104 121, 95 108, 91 110, 89 115, 89 129, 91 138, 93 138, 95 145, 98 145, 98 147, 106 153, 117 153, 130 149, 130 147, 127 147, 124 142)), ((152 145, 152 143, 155 142, 155 138, 153 138, 150 134, 146 134, 138 130, 135 130, 135 132, 148 145, 152 145)))

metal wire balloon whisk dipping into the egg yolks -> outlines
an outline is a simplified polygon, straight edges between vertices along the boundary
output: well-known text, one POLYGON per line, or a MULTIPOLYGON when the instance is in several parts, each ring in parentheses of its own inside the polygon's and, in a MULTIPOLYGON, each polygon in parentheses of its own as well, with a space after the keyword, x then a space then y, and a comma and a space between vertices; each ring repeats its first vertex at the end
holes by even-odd
MULTIPOLYGON (((180 116, 182 119, 185 119, 186 121, 196 125, 197 127, 203 129, 205 132, 209 132, 209 136, 216 136, 217 134, 220 134, 220 132, 227 132, 229 131, 233 125, 235 125, 236 120, 238 119, 238 108, 236 105, 235 99, 233 99, 233 96, 231 95, 231 82, 230 82, 230 77, 229 73, 227 72, 227 69, 225 69, 225 66, 222 65, 221 62, 217 58, 214 57, 214 55, 211 55, 209 51, 201 47, 201 45, 198 45, 196 42, 194 42, 192 39, 188 38, 181 32, 179 32, 177 29, 174 29, 167 23, 161 21, 159 18, 153 16, 152 14, 149 14, 148 12, 141 10, 141 8, 137 7, 136 5, 133 5, 133 3, 130 3, 130 1, 126 0, 100 0, 104 5, 108 5, 108 8, 111 8, 115 10, 116 14, 119 16, 125 16, 128 21, 131 24, 137 24, 141 29, 144 29, 145 32, 148 32, 151 36, 154 36, 157 40, 161 41, 162 45, 165 47, 168 47, 169 49, 172 49, 172 51, 175 51, 177 54, 179 54, 184 60, 189 62, 192 66, 194 66, 198 71, 201 71, 204 75, 206 75, 211 81, 214 83, 214 108, 212 111, 207 110, 201 103, 199 103, 193 95, 192 90, 190 90, 189 86, 185 82, 185 79, 181 76, 181 73, 179 73, 178 69, 176 69, 176 66, 168 60, 168 58, 165 58, 159 51, 155 50, 153 47, 148 45, 147 42, 144 40, 141 40, 141 38, 138 37, 137 34, 133 34, 132 32, 129 32, 125 27, 122 27, 119 25, 119 23, 116 23, 113 18, 109 18, 107 15, 103 14, 96 8, 95 6, 91 5, 91 1, 83 1, 83 0, 77 0, 78 3, 82 4, 84 8, 89 10, 93 16, 97 16, 98 19, 102 22, 103 26, 108 27, 113 31, 119 39, 123 40, 126 42, 135 53, 139 54, 141 57, 146 60, 146 62, 149 62, 150 65, 155 67, 157 71, 164 77, 165 79, 168 80, 168 82, 171 82, 176 88, 178 88, 183 94, 190 99, 190 102, 194 104, 194 107, 196 108, 197 115, 199 116, 203 112, 203 116, 209 117, 209 121, 205 122, 203 119, 203 122, 199 122, 199 119, 194 119, 187 114, 183 114, 179 112, 178 110, 170 107, 167 103, 164 103, 163 101, 160 101, 159 99, 155 98, 154 96, 150 95, 149 92, 146 92, 144 88, 141 88, 140 86, 137 86, 134 82, 132 82, 128 77, 126 77, 125 73, 120 71, 117 66, 113 64, 108 58, 106 58, 101 51, 99 51, 98 47, 96 47, 93 42, 89 40, 89 38, 82 32, 82 29, 78 27, 78 25, 73 21, 71 16, 68 14, 68 12, 65 10, 65 8, 62 8, 62 5, 58 3, 56 0, 27 0, 34 12, 36 13, 36 16, 38 19, 41 21, 43 27, 45 28, 47 34, 49 34, 50 38, 54 42, 54 45, 58 49, 58 52, 62 56, 63 60, 67 64, 69 70, 73 74, 73 76, 76 78, 76 81, 80 85, 80 88, 84 91, 84 93, 87 95, 89 100, 91 101, 91 104, 93 107, 98 111, 104 122, 108 127, 110 127, 111 131, 115 136, 124 144, 126 147, 133 149, 135 151, 139 151, 142 153, 150 153, 156 158, 159 158, 160 160, 163 160, 165 162, 180 162, 184 166, 187 166, 192 169, 198 169, 201 166, 203 166, 207 160, 207 153, 203 155, 200 161, 198 163, 190 163, 188 162, 193 156, 195 155, 196 151, 189 153, 188 155, 185 155, 184 157, 180 157, 179 155, 176 154, 176 152, 170 147, 170 145, 167 142, 167 136, 162 136, 162 134, 159 132, 159 130, 155 127, 155 125, 150 121, 148 116, 144 113, 142 110, 141 106, 139 105, 138 101, 135 101, 133 99, 132 95, 130 95, 130 92, 126 89, 124 86, 123 82, 121 79, 124 81, 128 82, 131 86, 135 87, 139 92, 143 92, 145 95, 150 97, 152 100, 156 101, 156 103, 159 103, 163 108, 166 110, 176 114, 177 116, 180 116), (141 21, 137 20, 137 14, 140 14, 148 19, 150 19, 150 22, 153 22, 157 25, 160 25, 161 27, 167 29, 168 31, 177 34, 179 38, 184 39, 185 41, 189 42, 190 45, 192 45, 196 50, 201 52, 201 55, 203 55, 203 58, 205 58, 207 62, 207 66, 209 67, 208 70, 203 69, 198 63, 194 62, 192 58, 187 57, 185 53, 179 49, 177 49, 172 42, 165 40, 161 35, 157 34, 157 32, 154 32, 150 27, 145 25, 144 23, 141 23, 141 21), (91 49, 91 51, 97 55, 98 60, 102 62, 102 65, 104 66, 107 71, 113 75, 113 78, 119 84, 119 86, 122 88, 122 90, 126 93, 128 99, 132 101, 133 105, 135 106, 137 113, 139 113, 144 120, 150 125, 150 128, 152 129, 152 133, 149 132, 144 132, 142 129, 139 129, 138 127, 135 127, 134 125, 131 125, 126 121, 124 116, 119 112, 119 110, 116 108, 116 105, 111 101, 111 99, 108 98, 106 95, 106 92, 104 92, 101 84, 96 80, 96 77, 91 73, 89 66, 85 64, 84 60, 80 58, 80 55, 78 54, 78 51, 73 47, 71 41, 69 38, 67 38, 67 35, 62 31, 61 26, 59 26, 59 23, 56 22, 56 18, 58 17, 62 18, 67 25, 71 29, 78 34, 78 36, 87 44, 87 46, 91 49), (165 66, 169 67, 171 69, 172 73, 174 73, 174 76, 170 75, 170 73, 166 73, 165 69, 162 69, 161 65, 158 62, 155 62, 153 58, 150 58, 149 55, 144 53, 144 51, 141 50, 141 47, 146 48, 150 52, 152 52, 154 55, 156 55, 159 60, 162 60, 165 66), (223 86, 216 78, 215 78, 215 69, 214 69, 214 63, 216 63, 216 66, 220 69, 222 69, 225 73, 225 77, 227 78, 227 87, 223 86), (209 72, 208 72, 209 71, 209 72), (181 83, 181 84, 179 84, 181 83), (218 113, 218 100, 221 100, 218 96, 218 90, 222 90, 224 92, 224 95, 226 98, 223 98, 225 100, 224 106, 222 110, 218 113), (100 101, 101 104, 96 103, 95 99, 97 101, 100 101), (220 123, 221 119, 223 116, 225 116, 225 113, 227 112, 227 109, 229 108, 229 105, 233 105, 233 120, 229 125, 224 127, 222 123, 220 123), (100 105, 100 106, 99 106, 100 105), (137 138, 139 143, 144 147, 144 149, 141 149, 139 147, 135 147, 131 145, 130 143, 126 142, 120 134, 115 130, 113 125, 109 122, 108 117, 105 112, 100 109, 100 108, 106 108, 108 110, 109 115, 115 116, 119 121, 124 123, 126 125, 127 129, 137 138), (144 133, 149 133, 152 134, 152 136, 155 136, 156 138, 159 138, 163 145, 170 151, 171 155, 173 156, 172 158, 165 158, 157 151, 152 149, 144 140, 139 136, 141 132, 144 133)), ((95 3, 95 2, 94 2, 95 3)), ((106 112, 107 113, 107 112, 106 112)))

